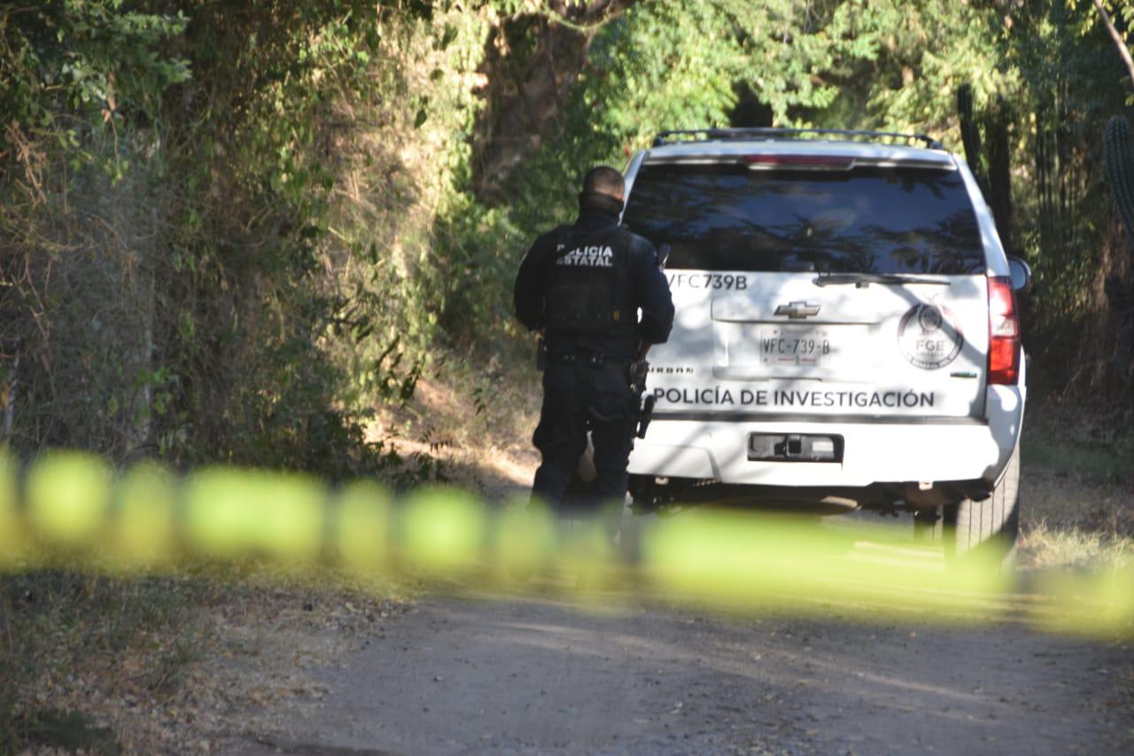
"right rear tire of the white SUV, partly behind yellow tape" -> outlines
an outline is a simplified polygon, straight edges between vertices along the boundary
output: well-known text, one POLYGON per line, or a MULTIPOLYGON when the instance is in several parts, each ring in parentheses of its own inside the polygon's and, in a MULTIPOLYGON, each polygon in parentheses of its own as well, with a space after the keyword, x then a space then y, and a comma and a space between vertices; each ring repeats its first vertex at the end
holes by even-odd
POLYGON ((945 507, 945 556, 959 566, 996 560, 1010 571, 1019 536, 1019 443, 992 494, 982 501, 964 498, 945 507))

